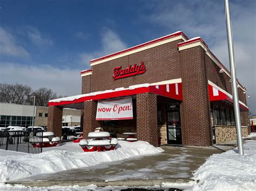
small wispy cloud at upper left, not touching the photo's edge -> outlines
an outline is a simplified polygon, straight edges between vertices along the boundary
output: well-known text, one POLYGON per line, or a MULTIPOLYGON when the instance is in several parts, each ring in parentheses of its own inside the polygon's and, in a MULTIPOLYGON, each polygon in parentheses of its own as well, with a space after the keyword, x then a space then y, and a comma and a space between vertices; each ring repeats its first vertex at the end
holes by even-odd
POLYGON ((31 42, 39 48, 53 45, 52 40, 46 36, 43 36, 36 27, 26 27, 26 33, 31 42))

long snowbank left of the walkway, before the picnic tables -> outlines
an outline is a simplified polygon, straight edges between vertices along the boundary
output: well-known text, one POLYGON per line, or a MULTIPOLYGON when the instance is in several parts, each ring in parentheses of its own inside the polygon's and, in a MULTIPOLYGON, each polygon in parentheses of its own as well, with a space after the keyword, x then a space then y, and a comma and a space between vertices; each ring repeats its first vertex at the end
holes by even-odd
POLYGON ((67 152, 53 150, 40 154, 0 157, 0 182, 17 180, 37 174, 55 173, 72 168, 89 167, 104 162, 157 154, 164 150, 147 142, 119 141, 117 150, 106 152, 67 152))

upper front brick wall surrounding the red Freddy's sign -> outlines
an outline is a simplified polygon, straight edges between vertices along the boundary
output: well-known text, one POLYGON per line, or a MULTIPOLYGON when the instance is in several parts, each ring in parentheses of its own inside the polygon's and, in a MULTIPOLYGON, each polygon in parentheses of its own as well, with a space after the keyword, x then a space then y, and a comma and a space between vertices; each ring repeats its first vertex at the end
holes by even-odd
POLYGON ((181 77, 180 58, 176 40, 161 46, 146 49, 118 59, 106 61, 92 66, 92 92, 119 87, 129 87, 134 84, 153 83, 181 77), (113 69, 117 66, 126 68, 129 65, 144 61, 146 72, 141 75, 113 80, 113 69))

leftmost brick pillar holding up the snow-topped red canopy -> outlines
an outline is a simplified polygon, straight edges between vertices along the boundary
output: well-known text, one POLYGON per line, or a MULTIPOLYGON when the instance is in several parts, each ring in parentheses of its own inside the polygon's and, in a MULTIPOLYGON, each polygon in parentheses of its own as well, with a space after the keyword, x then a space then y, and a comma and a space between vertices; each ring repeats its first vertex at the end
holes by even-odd
POLYGON ((56 137, 62 137, 62 108, 50 106, 48 109, 48 129, 56 137))

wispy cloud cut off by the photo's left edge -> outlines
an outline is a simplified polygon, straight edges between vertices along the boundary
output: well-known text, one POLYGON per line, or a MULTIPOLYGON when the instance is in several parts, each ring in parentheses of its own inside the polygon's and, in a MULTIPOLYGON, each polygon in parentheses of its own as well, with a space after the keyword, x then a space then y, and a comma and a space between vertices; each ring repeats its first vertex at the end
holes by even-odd
POLYGON ((0 26, 0 54, 28 58, 30 54, 25 48, 16 44, 14 36, 0 26))

